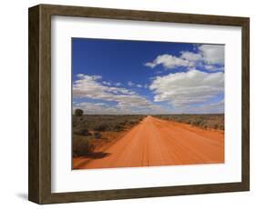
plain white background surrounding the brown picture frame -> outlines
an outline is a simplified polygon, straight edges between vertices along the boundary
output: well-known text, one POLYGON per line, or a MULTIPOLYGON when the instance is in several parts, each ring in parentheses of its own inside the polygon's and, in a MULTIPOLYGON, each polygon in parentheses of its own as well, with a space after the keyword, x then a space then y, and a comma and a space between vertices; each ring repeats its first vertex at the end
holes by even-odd
POLYGON ((251 17, 251 192, 201 194, 104 201, 78 204, 53 204, 46 208, 253 208, 256 204, 255 119, 256 13, 255 1, 223 0, 29 0, 2 1, 0 6, 0 196, 1 208, 39 208, 27 198, 27 8, 37 4, 87 5, 123 9, 155 10, 210 15, 251 17))

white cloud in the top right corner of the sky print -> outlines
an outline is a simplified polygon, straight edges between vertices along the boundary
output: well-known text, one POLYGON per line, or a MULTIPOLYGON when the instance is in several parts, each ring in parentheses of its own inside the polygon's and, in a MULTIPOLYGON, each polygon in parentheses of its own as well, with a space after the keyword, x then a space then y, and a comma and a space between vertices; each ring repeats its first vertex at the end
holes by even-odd
POLYGON ((205 63, 210 65, 224 64, 224 45, 200 45, 198 49, 205 63))

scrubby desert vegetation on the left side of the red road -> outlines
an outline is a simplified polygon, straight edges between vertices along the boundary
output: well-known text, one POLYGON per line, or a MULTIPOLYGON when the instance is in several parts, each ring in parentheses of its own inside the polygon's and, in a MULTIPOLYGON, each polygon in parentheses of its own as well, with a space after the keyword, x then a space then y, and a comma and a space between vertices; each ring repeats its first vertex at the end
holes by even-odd
MULTIPOLYGON (((78 113, 78 114, 77 114, 78 113)), ((73 114, 73 156, 91 156, 95 150, 116 140, 146 115, 73 114)))

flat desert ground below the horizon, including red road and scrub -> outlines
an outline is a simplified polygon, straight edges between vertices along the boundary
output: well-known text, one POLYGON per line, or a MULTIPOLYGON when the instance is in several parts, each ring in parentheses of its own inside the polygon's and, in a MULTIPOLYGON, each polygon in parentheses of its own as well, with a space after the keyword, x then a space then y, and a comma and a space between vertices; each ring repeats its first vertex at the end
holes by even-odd
POLYGON ((73 115, 73 169, 224 163, 224 114, 73 115))

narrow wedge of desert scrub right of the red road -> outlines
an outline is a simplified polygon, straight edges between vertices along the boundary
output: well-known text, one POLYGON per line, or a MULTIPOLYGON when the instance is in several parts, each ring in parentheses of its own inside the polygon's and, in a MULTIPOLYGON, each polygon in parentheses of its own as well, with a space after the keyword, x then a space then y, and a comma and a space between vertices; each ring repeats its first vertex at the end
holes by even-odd
POLYGON ((158 114, 154 116, 204 129, 224 130, 224 114, 158 114))

